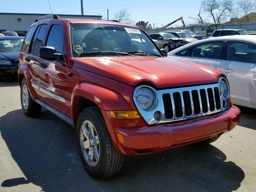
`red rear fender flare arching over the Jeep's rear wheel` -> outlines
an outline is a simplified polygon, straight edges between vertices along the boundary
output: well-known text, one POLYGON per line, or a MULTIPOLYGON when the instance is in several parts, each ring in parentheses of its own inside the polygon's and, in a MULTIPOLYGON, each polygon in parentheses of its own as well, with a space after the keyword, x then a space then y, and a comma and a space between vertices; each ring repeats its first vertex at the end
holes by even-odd
POLYGON ((28 85, 28 90, 30 92, 30 96, 32 98, 37 98, 36 97, 36 92, 34 90, 34 88, 32 87, 32 83, 31 83, 31 79, 32 79, 32 76, 29 72, 29 69, 28 69, 28 66, 24 65, 24 64, 21 64, 19 69, 18 69, 18 80, 19 80, 19 84, 21 86, 21 82, 22 82, 22 76, 25 77, 26 79, 26 82, 27 82, 27 85, 28 85))

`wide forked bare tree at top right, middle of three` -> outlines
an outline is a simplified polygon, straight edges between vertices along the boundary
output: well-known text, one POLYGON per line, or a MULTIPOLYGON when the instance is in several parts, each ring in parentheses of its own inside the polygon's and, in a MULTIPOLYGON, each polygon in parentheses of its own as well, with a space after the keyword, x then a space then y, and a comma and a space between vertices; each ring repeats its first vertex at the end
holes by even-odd
POLYGON ((233 6, 233 0, 206 0, 204 11, 210 14, 214 23, 221 23, 230 16, 233 6))

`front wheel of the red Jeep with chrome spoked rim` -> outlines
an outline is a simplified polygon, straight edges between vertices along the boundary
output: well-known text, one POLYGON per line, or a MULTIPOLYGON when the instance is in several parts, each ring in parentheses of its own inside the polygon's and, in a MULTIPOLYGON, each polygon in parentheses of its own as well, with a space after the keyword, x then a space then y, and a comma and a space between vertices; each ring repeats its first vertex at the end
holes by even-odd
POLYGON ((98 108, 89 107, 80 113, 76 136, 82 164, 92 177, 102 179, 120 170, 124 156, 114 148, 98 108))

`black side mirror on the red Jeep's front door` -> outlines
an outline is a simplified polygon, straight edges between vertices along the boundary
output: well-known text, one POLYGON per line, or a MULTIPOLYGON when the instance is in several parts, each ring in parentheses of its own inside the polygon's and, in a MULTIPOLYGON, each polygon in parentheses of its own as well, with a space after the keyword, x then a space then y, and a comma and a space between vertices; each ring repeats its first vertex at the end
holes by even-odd
POLYGON ((40 47, 39 49, 39 57, 41 59, 45 59, 45 60, 50 60, 50 61, 54 61, 54 60, 63 60, 63 56, 60 53, 56 53, 55 48, 54 47, 40 47))

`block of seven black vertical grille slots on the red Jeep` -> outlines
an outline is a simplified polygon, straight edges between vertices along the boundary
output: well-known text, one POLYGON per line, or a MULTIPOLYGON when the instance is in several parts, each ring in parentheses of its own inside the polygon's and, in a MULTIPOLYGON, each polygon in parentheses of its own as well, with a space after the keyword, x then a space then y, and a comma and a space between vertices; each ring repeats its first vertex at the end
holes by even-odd
POLYGON ((201 116, 221 108, 218 87, 162 94, 166 120, 201 116))

